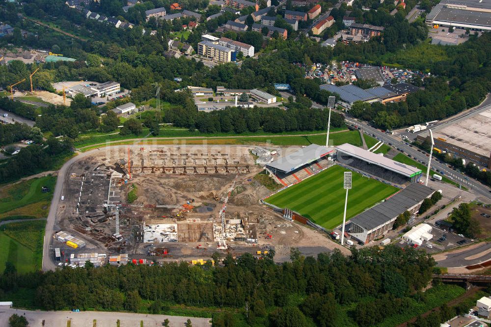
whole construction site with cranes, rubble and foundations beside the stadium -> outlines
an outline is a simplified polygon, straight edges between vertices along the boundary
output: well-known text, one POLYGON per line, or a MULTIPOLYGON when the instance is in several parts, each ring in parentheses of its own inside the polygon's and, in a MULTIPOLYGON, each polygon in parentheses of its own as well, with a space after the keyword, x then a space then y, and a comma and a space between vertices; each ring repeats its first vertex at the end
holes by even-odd
POLYGON ((53 247, 191 261, 325 239, 260 204, 271 191, 253 179, 263 168, 250 150, 118 146, 87 156, 67 171, 54 230, 83 243, 58 237, 53 247))

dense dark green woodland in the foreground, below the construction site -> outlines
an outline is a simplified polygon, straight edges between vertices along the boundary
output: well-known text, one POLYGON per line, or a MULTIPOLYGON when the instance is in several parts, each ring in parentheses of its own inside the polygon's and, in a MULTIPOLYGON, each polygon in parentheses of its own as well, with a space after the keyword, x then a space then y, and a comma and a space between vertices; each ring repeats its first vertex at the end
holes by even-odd
MULTIPOLYGON (((186 262, 159 266, 105 266, 57 269, 19 275, 7 265, 0 276, 0 298, 24 290, 47 310, 149 310, 164 306, 228 308, 255 326, 337 325, 342 308, 359 326, 373 326, 404 312, 408 301, 431 280, 435 262, 424 251, 387 246, 338 251, 318 258, 291 253, 292 262, 277 265, 250 254, 223 266, 191 266, 186 262), (291 299, 302 299, 292 304, 291 299), (145 308, 144 308, 145 307, 145 308)), ((145 311, 143 310, 143 311, 145 311)), ((234 317, 234 319, 236 319, 234 317)), ((219 322, 219 319, 218 319, 219 322)), ((231 322, 230 322, 231 323, 231 322)), ((220 325, 215 325, 220 326, 220 325)), ((234 326, 225 323, 221 326, 234 326)))

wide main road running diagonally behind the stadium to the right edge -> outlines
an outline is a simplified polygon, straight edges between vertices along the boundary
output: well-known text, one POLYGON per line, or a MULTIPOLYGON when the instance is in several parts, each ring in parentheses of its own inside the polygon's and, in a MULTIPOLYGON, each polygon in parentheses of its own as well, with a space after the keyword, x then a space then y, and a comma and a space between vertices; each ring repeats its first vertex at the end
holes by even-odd
MULTIPOLYGON (((382 140, 384 143, 391 143, 392 146, 395 146, 396 148, 399 148, 404 151, 406 155, 411 155, 412 158, 416 160, 421 160, 424 162, 425 165, 428 165, 428 157, 425 155, 425 153, 417 151, 416 148, 410 147, 409 144, 406 144, 406 142, 402 142, 393 136, 388 135, 387 133, 382 132, 381 130, 378 130, 376 128, 373 128, 369 125, 367 125, 365 122, 359 121, 353 117, 346 116, 346 122, 348 124, 353 124, 356 126, 359 126, 360 129, 363 132, 366 132, 370 135, 375 135, 376 138, 379 140, 382 140)), ((431 163, 432 169, 433 170, 440 170, 440 174, 444 175, 452 180, 454 180, 456 183, 460 183, 463 186, 467 187, 468 189, 474 190, 477 194, 482 195, 487 197, 488 199, 491 199, 491 193, 490 193, 490 188, 484 186, 483 184, 479 183, 478 181, 469 178, 468 180, 464 178, 464 175, 458 173, 454 169, 448 167, 446 164, 442 164, 436 161, 436 158, 432 158, 432 163, 431 163)), ((424 174, 426 174, 426 171, 423 171, 424 174)), ((467 177, 468 178, 468 177, 467 177)))

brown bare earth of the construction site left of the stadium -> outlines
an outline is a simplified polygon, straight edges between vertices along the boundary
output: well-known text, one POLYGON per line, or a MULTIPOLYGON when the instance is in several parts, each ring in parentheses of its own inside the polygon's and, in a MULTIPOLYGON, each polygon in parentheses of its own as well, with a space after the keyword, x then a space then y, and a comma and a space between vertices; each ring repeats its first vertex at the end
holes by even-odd
MULTIPOLYGON (((169 254, 172 255, 164 258, 153 257, 152 260, 190 260, 211 257, 217 248, 213 240, 213 236, 217 235, 216 231, 214 233, 213 226, 220 226, 221 219, 218 218, 218 213, 236 179, 236 166, 238 166, 239 174, 226 205, 225 219, 246 221, 249 227, 247 231, 250 232, 248 235, 257 238, 258 244, 250 245, 245 241, 229 239, 227 244, 233 255, 244 252, 256 254, 257 249, 274 247, 275 260, 285 261, 290 257, 292 246, 299 247, 304 255, 315 256, 334 248, 349 254, 347 248, 332 242, 327 235, 298 222, 287 221, 280 213, 273 212, 260 203, 260 199, 271 191, 253 180, 262 167, 254 164, 249 149, 250 147, 247 146, 131 147, 132 179, 118 188, 111 188, 111 190, 120 190, 116 191, 118 194, 116 201, 126 204, 127 194, 132 185, 137 187, 136 201, 132 206, 124 206, 121 209, 120 219, 123 222, 120 232, 130 240, 123 253, 126 252, 134 258, 145 257, 148 247, 132 239, 135 235, 135 226, 141 226, 142 222, 143 225, 177 223, 180 241, 155 244, 168 248, 169 254), (218 173, 214 168, 217 164, 218 173), (224 168, 227 164, 229 172, 224 168), (208 166, 208 173, 203 170, 203 166, 208 166), (175 168, 174 172, 172 167, 175 168), (186 173, 183 167, 187 167, 186 173), (197 168, 197 173, 193 171, 193 167, 197 168), (194 207, 190 212, 182 212, 177 208, 155 207, 156 205, 180 206, 188 203, 194 207), (267 239, 267 234, 272 235, 272 238, 267 239), (186 235, 184 239, 182 235, 186 235), (206 246, 207 249, 196 249, 197 245, 206 246)), ((105 151, 83 158, 68 170, 67 176, 70 178, 65 181, 63 190, 65 199, 60 202, 56 225, 59 226, 57 230, 66 230, 87 243, 85 248, 78 250, 79 253, 108 252, 104 244, 89 235, 81 234, 80 229, 74 230, 73 225, 85 224, 84 226, 103 231, 107 235, 114 233, 113 218, 93 224, 85 216, 90 215, 92 211, 101 212, 102 204, 107 200, 108 194, 107 174, 111 169, 118 171, 119 168, 115 165, 117 160, 127 158, 127 148, 106 148, 105 151), (76 214, 75 206, 80 196, 82 176, 85 176, 85 184, 82 187, 82 201, 86 199, 85 207, 76 214), (86 210, 89 211, 88 214, 86 210)), ((77 252, 68 250, 72 253, 77 252)))

